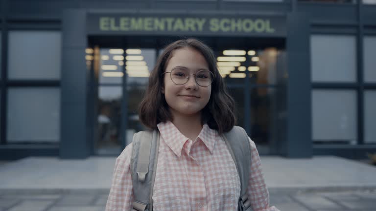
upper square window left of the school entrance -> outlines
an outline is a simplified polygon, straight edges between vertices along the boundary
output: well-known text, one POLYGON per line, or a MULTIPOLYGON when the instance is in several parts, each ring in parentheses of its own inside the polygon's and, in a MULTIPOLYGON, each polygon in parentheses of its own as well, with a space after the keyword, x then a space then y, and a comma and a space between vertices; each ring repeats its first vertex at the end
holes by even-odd
POLYGON ((9 79, 60 79, 61 33, 10 31, 9 79))

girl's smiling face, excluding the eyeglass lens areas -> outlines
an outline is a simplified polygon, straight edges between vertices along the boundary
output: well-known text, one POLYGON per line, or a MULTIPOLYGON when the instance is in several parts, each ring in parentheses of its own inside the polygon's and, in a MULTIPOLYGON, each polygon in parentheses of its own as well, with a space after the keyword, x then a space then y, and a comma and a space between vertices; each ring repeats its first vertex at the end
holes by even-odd
MULTIPOLYGON (((200 70, 209 70, 209 65, 199 51, 190 47, 183 47, 173 51, 164 71, 171 72, 174 69, 196 74, 200 70)), ((186 84, 177 85, 172 82, 170 74, 164 74, 162 93, 164 93, 164 98, 172 115, 191 116, 200 114, 209 102, 211 85, 208 87, 199 86, 195 81, 195 75, 189 75, 186 84)))

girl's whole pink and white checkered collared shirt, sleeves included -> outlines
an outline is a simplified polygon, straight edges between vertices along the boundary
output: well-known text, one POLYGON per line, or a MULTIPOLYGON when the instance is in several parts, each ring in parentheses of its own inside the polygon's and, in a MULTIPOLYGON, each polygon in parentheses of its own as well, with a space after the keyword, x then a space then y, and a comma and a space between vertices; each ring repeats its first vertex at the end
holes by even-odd
MULTIPOLYGON (((195 141, 171 122, 158 124, 161 133, 153 189, 154 211, 237 211, 240 181, 235 162, 216 130, 204 125, 195 141)), ((269 207, 260 158, 255 143, 248 196, 254 211, 279 211, 269 207)), ((106 211, 130 211, 133 186, 130 171, 132 144, 116 160, 106 211)))

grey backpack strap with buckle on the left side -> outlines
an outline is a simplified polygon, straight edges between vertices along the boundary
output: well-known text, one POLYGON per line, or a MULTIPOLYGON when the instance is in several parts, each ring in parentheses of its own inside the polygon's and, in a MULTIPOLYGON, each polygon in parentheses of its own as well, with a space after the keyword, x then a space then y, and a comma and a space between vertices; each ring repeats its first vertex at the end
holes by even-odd
POLYGON ((133 135, 131 175, 134 211, 152 211, 152 193, 158 162, 159 131, 146 130, 133 135))

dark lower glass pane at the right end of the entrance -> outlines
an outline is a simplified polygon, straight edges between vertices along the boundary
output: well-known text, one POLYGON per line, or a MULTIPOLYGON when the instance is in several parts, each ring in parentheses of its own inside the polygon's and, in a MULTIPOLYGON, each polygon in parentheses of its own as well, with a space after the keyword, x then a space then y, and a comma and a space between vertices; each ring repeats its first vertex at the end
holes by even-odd
POLYGON ((270 144, 276 126, 275 88, 251 89, 251 139, 262 145, 270 144))

